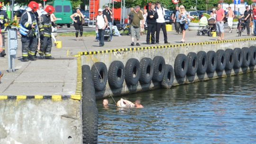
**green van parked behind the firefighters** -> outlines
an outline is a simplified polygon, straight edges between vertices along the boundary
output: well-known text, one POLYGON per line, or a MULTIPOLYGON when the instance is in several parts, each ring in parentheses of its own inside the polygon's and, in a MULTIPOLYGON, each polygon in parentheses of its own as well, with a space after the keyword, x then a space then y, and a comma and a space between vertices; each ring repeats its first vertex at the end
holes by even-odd
POLYGON ((53 4, 55 8, 55 17, 57 18, 56 24, 58 25, 70 25, 73 23, 73 20, 70 18, 72 13, 72 4, 70 0, 54 0, 53 4))

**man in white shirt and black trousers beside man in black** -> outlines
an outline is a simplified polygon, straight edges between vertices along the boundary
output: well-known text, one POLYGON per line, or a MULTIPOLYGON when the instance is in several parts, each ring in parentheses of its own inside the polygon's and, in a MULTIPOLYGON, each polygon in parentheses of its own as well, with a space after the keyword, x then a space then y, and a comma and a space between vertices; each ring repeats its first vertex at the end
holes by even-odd
POLYGON ((165 44, 170 44, 167 41, 167 32, 166 32, 166 27, 165 27, 165 10, 161 8, 160 2, 156 2, 156 12, 158 14, 158 18, 156 19, 156 36, 155 36, 155 43, 159 44, 159 34, 160 34, 160 29, 162 28, 163 33, 164 33, 164 40, 165 44))

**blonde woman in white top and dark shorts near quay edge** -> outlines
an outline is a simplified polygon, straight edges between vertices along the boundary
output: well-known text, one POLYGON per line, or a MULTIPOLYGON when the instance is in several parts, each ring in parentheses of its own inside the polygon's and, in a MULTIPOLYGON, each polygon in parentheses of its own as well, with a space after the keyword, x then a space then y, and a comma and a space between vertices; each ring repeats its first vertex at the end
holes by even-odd
POLYGON ((181 20, 181 30, 182 30, 182 43, 185 43, 185 32, 186 32, 186 27, 185 24, 188 24, 189 15, 188 12, 186 11, 185 7, 183 5, 180 6, 179 9, 179 19, 181 20))

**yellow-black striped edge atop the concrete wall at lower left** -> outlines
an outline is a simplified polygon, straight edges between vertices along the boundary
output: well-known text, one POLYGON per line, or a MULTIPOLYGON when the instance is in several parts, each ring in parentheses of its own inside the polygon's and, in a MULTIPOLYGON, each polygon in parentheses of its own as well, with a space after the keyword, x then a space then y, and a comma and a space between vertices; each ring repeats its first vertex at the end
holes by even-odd
POLYGON ((0 100, 5 99, 52 99, 52 100, 62 100, 62 99, 76 99, 80 100, 81 95, 34 95, 34 96, 26 96, 26 95, 18 95, 18 96, 0 96, 0 100))

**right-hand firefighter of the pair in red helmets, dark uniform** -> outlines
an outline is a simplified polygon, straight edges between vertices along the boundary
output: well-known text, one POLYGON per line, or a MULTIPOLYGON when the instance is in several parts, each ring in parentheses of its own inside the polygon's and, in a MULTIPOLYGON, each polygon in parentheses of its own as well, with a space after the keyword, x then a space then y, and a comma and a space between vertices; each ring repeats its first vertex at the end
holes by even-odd
POLYGON ((54 59, 51 55, 52 50, 52 21, 51 14, 55 11, 53 6, 47 6, 45 14, 39 19, 39 34, 40 34, 40 56, 45 56, 45 59, 54 59))

